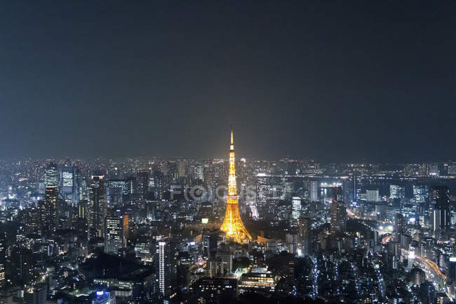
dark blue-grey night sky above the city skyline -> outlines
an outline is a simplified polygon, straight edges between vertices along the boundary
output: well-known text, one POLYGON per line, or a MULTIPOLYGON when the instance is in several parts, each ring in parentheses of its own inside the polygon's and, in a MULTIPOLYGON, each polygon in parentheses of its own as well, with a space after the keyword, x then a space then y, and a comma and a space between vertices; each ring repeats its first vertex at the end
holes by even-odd
POLYGON ((456 158, 455 1, 138 2, 1 2, 0 157, 456 158))

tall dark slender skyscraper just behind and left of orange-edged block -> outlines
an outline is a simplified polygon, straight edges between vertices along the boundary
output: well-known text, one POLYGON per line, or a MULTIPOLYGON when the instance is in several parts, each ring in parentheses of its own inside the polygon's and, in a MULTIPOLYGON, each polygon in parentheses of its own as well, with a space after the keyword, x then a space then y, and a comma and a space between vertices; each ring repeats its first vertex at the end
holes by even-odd
POLYGON ((106 188, 103 176, 92 176, 89 189, 90 226, 95 229, 98 237, 104 235, 105 216, 107 213, 106 188))

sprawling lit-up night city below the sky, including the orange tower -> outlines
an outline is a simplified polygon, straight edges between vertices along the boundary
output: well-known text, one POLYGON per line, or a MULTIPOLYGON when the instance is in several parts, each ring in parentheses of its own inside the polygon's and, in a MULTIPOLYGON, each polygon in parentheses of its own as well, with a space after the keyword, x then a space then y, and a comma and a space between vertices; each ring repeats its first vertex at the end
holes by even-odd
POLYGON ((236 159, 226 137, 229 159, 2 161, 2 303, 454 299, 456 161, 236 159))

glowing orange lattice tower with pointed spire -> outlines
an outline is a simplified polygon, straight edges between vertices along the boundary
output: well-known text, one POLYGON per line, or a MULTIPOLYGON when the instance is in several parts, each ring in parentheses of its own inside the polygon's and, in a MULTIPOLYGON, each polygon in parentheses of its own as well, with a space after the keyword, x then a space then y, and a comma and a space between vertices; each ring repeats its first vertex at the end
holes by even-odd
POLYGON ((225 211, 224 220, 220 230, 224 231, 227 237, 234 238, 234 242, 243 243, 252 239, 244 227, 239 214, 238 195, 236 190, 236 169, 234 168, 234 143, 233 131, 232 141, 229 150, 229 176, 228 176, 228 195, 227 211, 225 211))

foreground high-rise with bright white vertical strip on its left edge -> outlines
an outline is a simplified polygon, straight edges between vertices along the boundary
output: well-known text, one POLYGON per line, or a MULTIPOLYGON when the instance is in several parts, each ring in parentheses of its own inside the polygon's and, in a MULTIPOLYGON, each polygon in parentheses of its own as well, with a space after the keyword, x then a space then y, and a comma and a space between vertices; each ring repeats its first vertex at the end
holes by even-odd
POLYGON ((172 242, 159 242, 159 291, 164 297, 169 297, 175 292, 175 277, 177 265, 175 250, 172 242))

